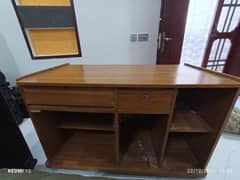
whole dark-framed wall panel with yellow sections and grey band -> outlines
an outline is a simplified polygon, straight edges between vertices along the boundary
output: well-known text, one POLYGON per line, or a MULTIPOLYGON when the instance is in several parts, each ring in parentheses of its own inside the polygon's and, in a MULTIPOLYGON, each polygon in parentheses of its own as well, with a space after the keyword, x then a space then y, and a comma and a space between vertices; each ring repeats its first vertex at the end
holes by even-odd
POLYGON ((81 57, 78 27, 72 0, 12 0, 12 2, 32 59, 81 57), (29 12, 31 12, 31 8, 33 11, 37 8, 42 8, 43 11, 48 12, 50 8, 50 14, 46 15, 46 13, 44 13, 45 17, 42 17, 43 19, 40 20, 38 19, 39 15, 36 13, 33 13, 33 15, 31 13, 27 14, 24 18, 27 18, 28 23, 34 22, 35 24, 26 25, 23 24, 24 21, 20 14, 19 7, 20 9, 25 8, 25 10, 27 9, 29 12), (46 8, 48 8, 48 10, 46 8), (72 14, 72 17, 70 17, 72 19, 65 19, 67 23, 64 22, 64 18, 69 18, 69 14, 67 17, 62 16, 64 8, 72 14), (68 8, 71 8, 71 10, 68 8), (58 9, 58 11, 56 11, 56 9, 58 9), (56 14, 54 14, 54 12, 56 14), (59 19, 54 18, 55 16, 59 19), (29 18, 32 19, 29 21, 29 18), (56 22, 56 20, 58 22, 56 22), (39 21, 39 24, 37 24, 37 21, 39 21))

